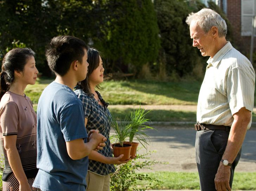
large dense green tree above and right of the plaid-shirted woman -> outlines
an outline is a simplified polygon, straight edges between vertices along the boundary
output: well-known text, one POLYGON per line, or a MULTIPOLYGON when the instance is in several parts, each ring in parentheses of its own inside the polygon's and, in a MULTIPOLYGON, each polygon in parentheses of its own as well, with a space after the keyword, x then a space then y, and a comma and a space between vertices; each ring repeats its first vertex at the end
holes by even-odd
POLYGON ((138 72, 138 66, 154 62, 160 40, 152 1, 106 1, 105 10, 102 19, 107 22, 100 28, 104 35, 95 46, 107 55, 110 69, 138 72))

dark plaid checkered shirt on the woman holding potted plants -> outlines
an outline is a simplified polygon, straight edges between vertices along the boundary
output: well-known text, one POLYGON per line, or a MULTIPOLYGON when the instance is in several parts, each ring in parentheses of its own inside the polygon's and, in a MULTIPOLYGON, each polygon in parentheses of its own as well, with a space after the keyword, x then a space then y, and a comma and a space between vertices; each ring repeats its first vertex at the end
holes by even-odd
MULTIPOLYGON (((110 149, 109 140, 110 112, 107 108, 108 103, 103 100, 98 91, 96 91, 96 93, 98 94, 100 101, 103 103, 103 106, 97 103, 93 94, 85 94, 80 86, 75 87, 75 93, 84 105, 84 116, 88 119, 86 125, 87 133, 89 133, 91 129, 98 129, 100 133, 107 138, 107 141, 105 142, 106 146, 103 148, 103 150, 98 152, 106 157, 112 157, 113 153, 110 149)), ((105 176, 115 172, 115 167, 113 164, 104 164, 98 161, 89 160, 88 170, 98 175, 105 176)))

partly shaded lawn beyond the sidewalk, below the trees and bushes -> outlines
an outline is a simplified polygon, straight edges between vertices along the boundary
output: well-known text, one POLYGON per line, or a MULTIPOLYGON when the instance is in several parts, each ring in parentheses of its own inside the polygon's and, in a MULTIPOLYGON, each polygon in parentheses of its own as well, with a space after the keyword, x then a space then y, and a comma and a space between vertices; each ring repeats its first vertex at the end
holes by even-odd
MULTIPOLYGON (((28 85, 25 94, 33 104, 53 79, 39 79, 28 85)), ((196 105, 200 82, 106 81, 100 90, 104 99, 115 104, 196 105)))

